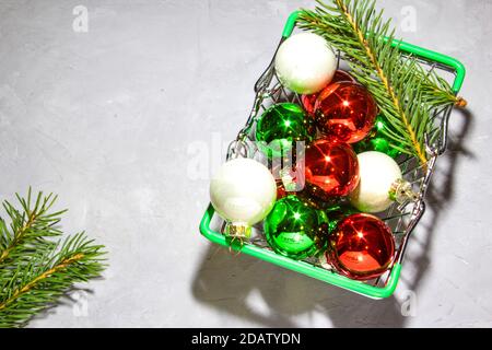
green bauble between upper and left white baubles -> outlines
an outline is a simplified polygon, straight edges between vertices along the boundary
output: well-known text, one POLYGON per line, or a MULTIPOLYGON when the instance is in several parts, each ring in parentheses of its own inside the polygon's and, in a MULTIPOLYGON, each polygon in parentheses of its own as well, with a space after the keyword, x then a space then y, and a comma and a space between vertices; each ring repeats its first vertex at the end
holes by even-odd
POLYGON ((259 118, 256 126, 258 149, 269 156, 282 156, 296 141, 309 142, 315 135, 313 121, 295 103, 279 103, 259 118))

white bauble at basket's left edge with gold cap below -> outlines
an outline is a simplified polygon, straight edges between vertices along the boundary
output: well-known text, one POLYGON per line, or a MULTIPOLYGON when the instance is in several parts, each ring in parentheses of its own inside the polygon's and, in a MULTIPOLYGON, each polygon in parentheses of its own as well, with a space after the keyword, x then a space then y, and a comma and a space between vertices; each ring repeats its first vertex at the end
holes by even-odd
POLYGON ((251 159, 224 163, 210 183, 215 211, 232 224, 251 226, 263 220, 277 199, 273 175, 251 159))

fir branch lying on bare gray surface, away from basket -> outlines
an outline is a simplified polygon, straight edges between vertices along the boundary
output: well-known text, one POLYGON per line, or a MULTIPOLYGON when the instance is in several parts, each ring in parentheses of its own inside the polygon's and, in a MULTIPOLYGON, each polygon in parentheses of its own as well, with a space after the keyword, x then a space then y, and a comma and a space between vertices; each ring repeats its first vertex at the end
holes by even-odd
POLYGON ((74 283, 104 270, 104 247, 85 233, 61 240, 57 228, 63 211, 50 212, 57 197, 32 192, 3 202, 10 224, 0 219, 0 328, 22 327, 37 313, 55 306, 74 283))

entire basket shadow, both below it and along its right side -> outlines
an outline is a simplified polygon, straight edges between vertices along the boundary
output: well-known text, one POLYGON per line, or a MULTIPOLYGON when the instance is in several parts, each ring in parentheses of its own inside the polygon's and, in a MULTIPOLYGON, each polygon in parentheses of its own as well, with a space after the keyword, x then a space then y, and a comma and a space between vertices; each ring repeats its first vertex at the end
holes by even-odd
MULTIPOLYGON (((464 148, 472 118, 466 110, 461 110, 461 117, 462 127, 449 138, 448 151, 440 159, 438 174, 435 175, 438 175, 441 186, 431 184, 427 192, 424 217, 430 224, 419 225, 410 238, 409 245, 419 244, 420 249, 403 262, 402 280, 403 288, 413 292, 418 291, 430 264, 434 229, 453 202, 458 160, 460 155, 473 156, 464 148), (446 166, 441 167, 441 163, 446 166), (406 264, 413 267, 411 278, 405 273, 406 264)), ((199 302, 246 319, 251 326, 403 327, 409 320, 396 296, 370 300, 247 255, 232 256, 215 245, 210 245, 203 256, 191 290, 199 302)))

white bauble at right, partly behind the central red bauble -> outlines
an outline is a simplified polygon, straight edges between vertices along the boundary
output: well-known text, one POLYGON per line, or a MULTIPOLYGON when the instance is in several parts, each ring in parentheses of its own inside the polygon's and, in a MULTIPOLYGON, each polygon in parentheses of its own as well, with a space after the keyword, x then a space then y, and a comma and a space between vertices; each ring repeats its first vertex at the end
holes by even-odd
POLYGON ((352 206, 364 212, 380 212, 394 202, 391 187, 402 178, 401 170, 389 155, 370 151, 358 154, 359 186, 350 195, 352 206))

